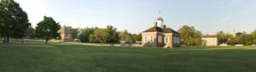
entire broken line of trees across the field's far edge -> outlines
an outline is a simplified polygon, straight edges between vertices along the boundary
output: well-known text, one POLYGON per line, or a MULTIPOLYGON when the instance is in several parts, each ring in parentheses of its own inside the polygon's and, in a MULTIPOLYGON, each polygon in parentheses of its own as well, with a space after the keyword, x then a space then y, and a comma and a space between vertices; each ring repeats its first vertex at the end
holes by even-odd
MULTIPOLYGON (((61 29, 61 25, 59 24, 52 17, 44 16, 36 28, 32 28, 26 12, 20 8, 19 3, 14 0, 1 0, 0 2, 0 36, 4 37, 6 43, 9 43, 9 38, 44 39, 46 43, 50 39, 60 39, 58 30, 61 29)), ((108 25, 106 28, 86 27, 80 31, 77 28, 69 27, 69 30, 71 30, 73 39, 79 39, 81 42, 113 44, 119 42, 135 43, 142 40, 142 34, 131 34, 127 30, 118 31, 112 25, 108 25)), ((181 35, 183 45, 201 46, 203 34, 194 26, 183 25, 177 31, 181 35)), ((256 44, 256 30, 251 33, 238 32, 235 34, 218 31, 214 36, 218 37, 219 44, 231 46, 256 44)))

